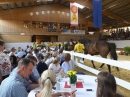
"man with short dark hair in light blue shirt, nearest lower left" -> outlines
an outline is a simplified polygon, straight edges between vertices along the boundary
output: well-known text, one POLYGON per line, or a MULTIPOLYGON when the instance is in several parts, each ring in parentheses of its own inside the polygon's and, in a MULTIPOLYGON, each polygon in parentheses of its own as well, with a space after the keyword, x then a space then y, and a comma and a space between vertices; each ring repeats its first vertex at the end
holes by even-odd
POLYGON ((32 73, 34 63, 23 58, 18 63, 18 69, 8 78, 2 81, 0 86, 0 97, 27 97, 28 93, 23 84, 24 78, 32 73))

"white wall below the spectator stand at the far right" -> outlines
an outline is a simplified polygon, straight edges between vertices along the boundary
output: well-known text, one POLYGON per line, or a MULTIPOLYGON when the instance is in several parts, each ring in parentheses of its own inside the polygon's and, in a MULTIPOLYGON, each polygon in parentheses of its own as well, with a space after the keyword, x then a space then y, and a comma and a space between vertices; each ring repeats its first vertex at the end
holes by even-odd
POLYGON ((110 43, 115 43, 117 48, 124 48, 130 46, 130 40, 109 40, 110 43))

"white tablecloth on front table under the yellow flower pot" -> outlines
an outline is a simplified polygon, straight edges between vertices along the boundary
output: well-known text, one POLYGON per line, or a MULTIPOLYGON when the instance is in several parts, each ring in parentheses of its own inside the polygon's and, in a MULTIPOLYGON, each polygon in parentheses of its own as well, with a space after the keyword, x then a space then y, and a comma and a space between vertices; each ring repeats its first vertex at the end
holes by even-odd
MULTIPOLYGON (((83 88, 76 88, 76 97, 96 97, 97 83, 95 82, 95 76, 89 75, 77 75, 78 79, 83 79, 83 88), (92 89, 93 91, 86 91, 86 89, 92 89)), ((70 92, 70 88, 64 88, 65 82, 69 81, 69 78, 62 78, 60 82, 60 90, 55 90, 55 92, 70 92)), ((32 91, 35 91, 34 89, 32 91)), ((29 96, 31 97, 31 96, 29 96)))

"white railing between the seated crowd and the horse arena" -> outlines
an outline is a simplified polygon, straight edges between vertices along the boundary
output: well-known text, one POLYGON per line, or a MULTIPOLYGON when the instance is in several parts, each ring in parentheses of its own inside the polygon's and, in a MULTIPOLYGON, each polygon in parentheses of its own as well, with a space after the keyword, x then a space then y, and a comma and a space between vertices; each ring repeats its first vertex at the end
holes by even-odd
MULTIPOLYGON (((94 69, 94 68, 91 68, 91 67, 88 67, 84 64, 81 64, 77 61, 77 58, 76 60, 74 60, 74 56, 76 57, 80 57, 80 58, 85 58, 85 59, 89 59, 89 60, 93 60, 93 61, 96 61, 96 62, 101 62, 101 63, 105 63, 105 64, 109 64, 109 65, 112 65, 112 66, 116 66, 116 67, 119 67, 119 68, 123 68, 123 69, 127 69, 127 70, 130 70, 130 63, 124 63, 124 62, 121 62, 121 61, 115 61, 115 60, 111 60, 111 59, 106 59, 106 58, 100 58, 100 57, 95 57, 95 56, 91 56, 91 55, 85 55, 85 54, 81 54, 81 53, 75 53, 73 51, 69 52, 69 51, 64 51, 64 53, 70 53, 71 54, 71 59, 74 61, 74 65, 76 66, 79 66, 80 68, 82 69, 85 69, 93 74, 98 74, 100 71, 94 69)), ((117 71, 118 72, 118 71, 117 71)), ((120 78, 117 78, 115 77, 116 79, 116 82, 118 85, 130 90, 130 82, 127 82, 125 80, 122 80, 120 78)))

